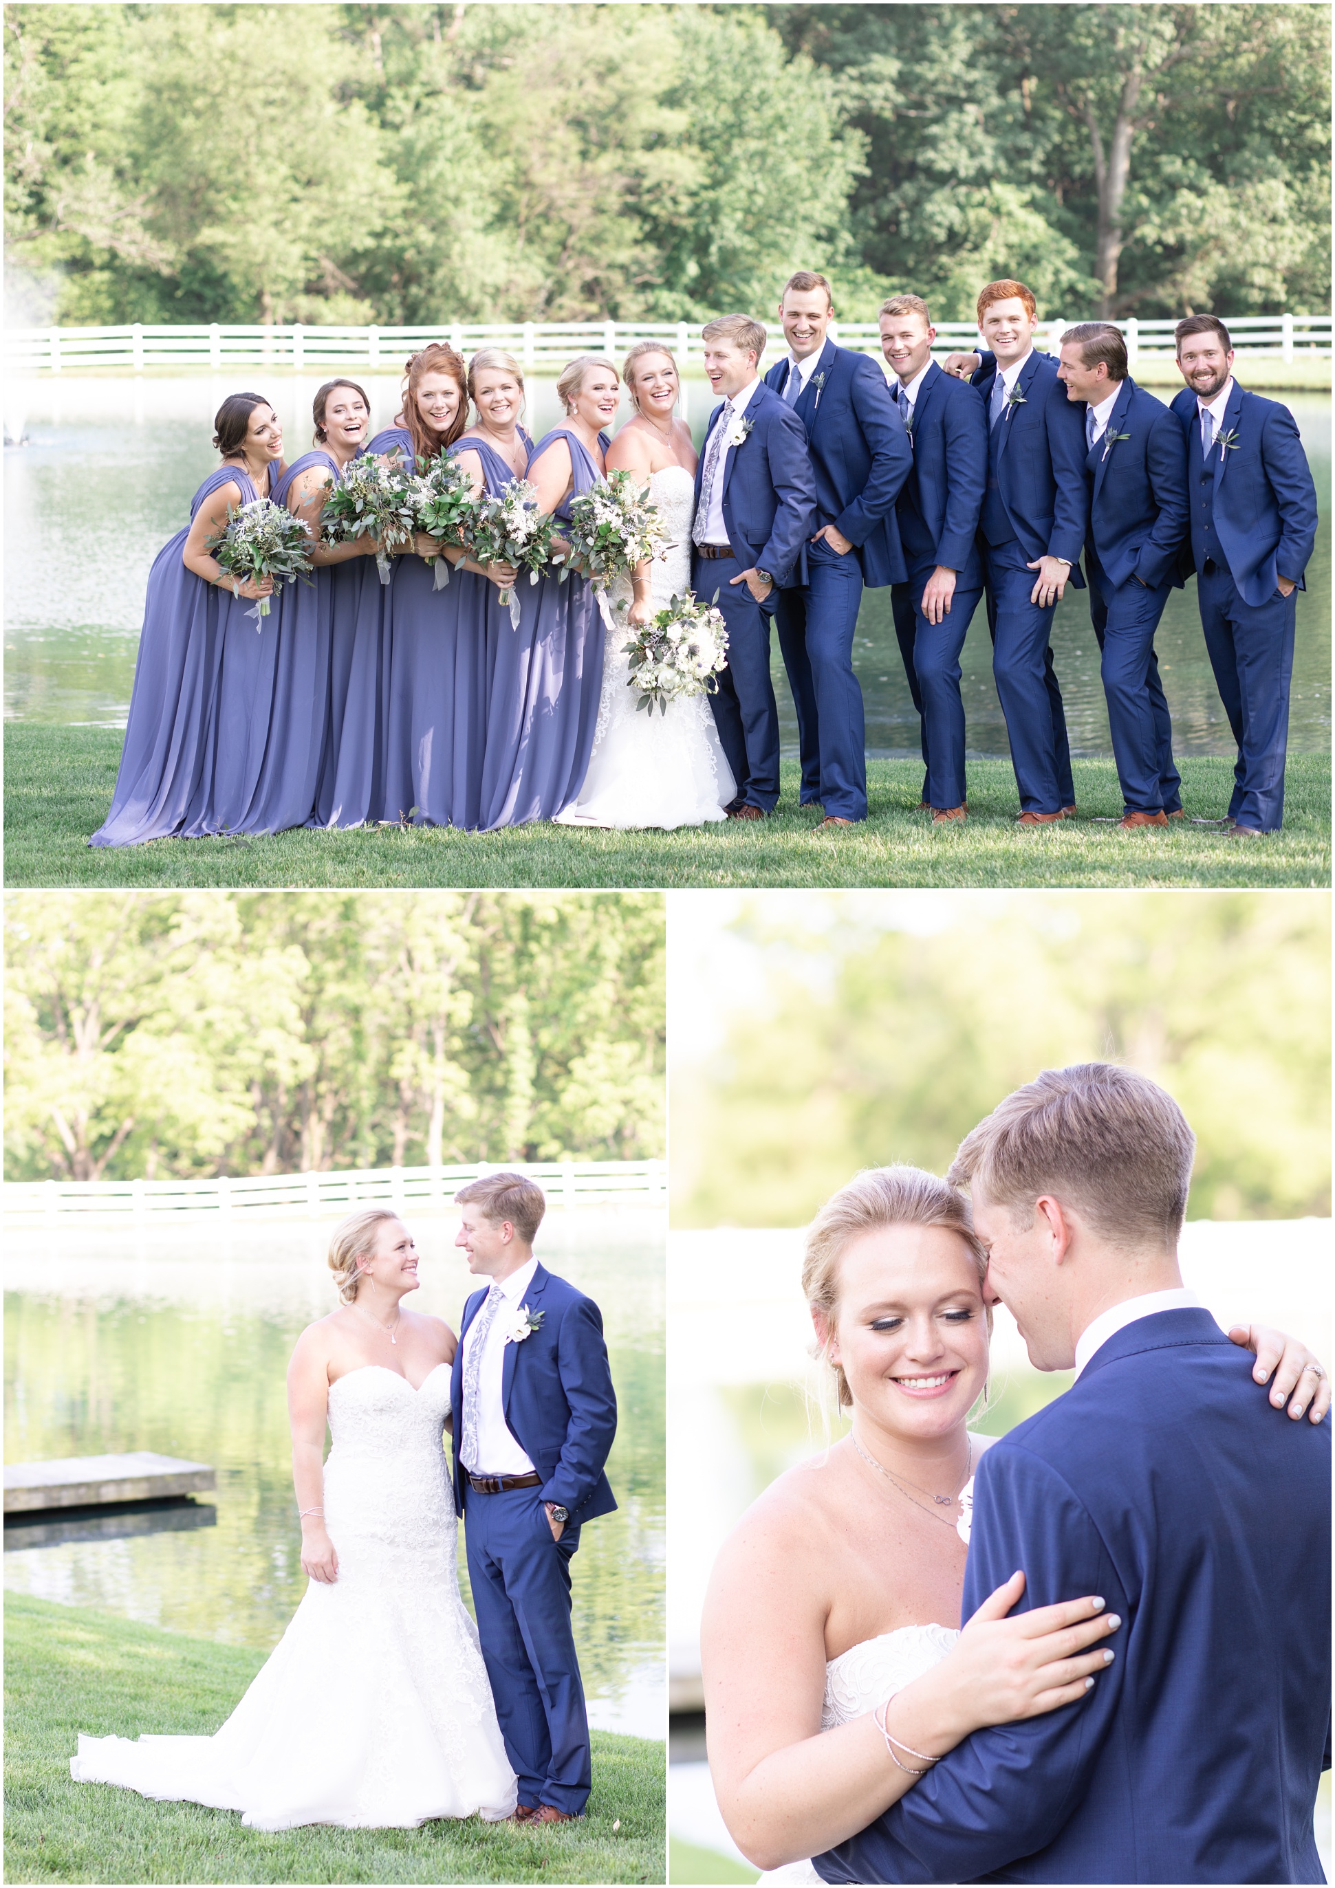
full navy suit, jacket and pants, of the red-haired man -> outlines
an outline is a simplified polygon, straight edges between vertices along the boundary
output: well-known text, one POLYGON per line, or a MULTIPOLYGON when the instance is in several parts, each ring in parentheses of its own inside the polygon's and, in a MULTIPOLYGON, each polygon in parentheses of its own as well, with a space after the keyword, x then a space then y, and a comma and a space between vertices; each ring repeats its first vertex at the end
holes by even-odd
MULTIPOLYGON (((974 387, 989 412, 997 359, 982 355, 974 387)), ((1052 612, 1029 600, 1039 557, 1065 557, 1084 589, 1088 525, 1084 417, 1067 400, 1052 355, 1031 353, 1012 389, 1020 398, 988 419, 988 491, 978 548, 988 570, 991 670, 1006 717, 1020 810, 1056 814, 1074 801, 1061 689, 1052 666, 1052 612)))

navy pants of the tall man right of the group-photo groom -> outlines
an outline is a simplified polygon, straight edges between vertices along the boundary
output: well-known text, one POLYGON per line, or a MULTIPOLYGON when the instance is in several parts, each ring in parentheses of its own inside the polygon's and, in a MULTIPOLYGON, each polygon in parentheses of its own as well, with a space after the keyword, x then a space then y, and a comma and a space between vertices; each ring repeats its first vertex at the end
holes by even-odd
POLYGON ((853 674, 863 568, 821 538, 806 546, 806 583, 778 593, 774 621, 797 708, 803 806, 840 819, 867 818, 867 731, 853 674))

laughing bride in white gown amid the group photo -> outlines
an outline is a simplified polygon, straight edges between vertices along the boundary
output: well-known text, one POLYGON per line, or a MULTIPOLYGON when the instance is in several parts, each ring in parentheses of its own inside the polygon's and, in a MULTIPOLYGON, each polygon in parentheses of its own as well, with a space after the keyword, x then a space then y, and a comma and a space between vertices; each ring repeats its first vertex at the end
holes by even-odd
POLYGON ((672 417, 680 381, 661 342, 638 342, 625 357, 634 415, 608 447, 608 472, 648 480, 650 498, 668 527, 668 553, 640 565, 633 582, 612 585, 604 621, 602 697, 589 770, 580 795, 555 818, 561 825, 665 827, 725 819, 736 782, 723 759, 714 716, 702 695, 668 702, 667 714, 636 708, 625 655, 629 627, 648 623, 691 587, 695 446, 672 417), (627 608, 629 606, 629 608, 627 608))

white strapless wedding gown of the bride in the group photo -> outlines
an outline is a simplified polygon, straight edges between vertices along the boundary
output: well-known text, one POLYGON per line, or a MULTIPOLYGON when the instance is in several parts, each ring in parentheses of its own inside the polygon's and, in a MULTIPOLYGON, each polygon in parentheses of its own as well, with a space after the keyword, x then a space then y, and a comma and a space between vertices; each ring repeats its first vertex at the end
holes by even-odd
MULTIPOLYGON (((691 587, 691 517, 695 480, 685 466, 665 466, 650 478, 650 498, 663 512, 668 553, 650 565, 653 608, 691 587)), ((665 827, 706 825, 725 819, 723 808, 736 793, 733 770, 714 727, 708 699, 691 695, 668 702, 667 714, 638 708, 638 689, 629 687, 631 631, 625 612, 631 582, 619 578, 604 602, 606 642, 602 695, 589 770, 578 799, 557 814, 561 825, 665 827)), ((704 598, 708 600, 708 598, 704 598)))

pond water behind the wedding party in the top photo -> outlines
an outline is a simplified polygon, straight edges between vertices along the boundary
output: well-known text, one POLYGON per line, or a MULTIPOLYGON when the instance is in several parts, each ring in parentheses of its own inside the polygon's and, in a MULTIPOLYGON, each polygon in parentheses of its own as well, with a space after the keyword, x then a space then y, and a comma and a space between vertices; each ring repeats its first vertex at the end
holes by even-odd
MULTIPOLYGON (((397 410, 398 378, 359 379, 376 425, 397 410)), ((6 714, 28 721, 123 727, 134 680, 144 582, 153 557, 189 515, 189 500, 213 466, 211 415, 238 383, 268 393, 287 429, 289 455, 306 449, 315 376, 238 370, 210 376, 89 376, 13 383, 6 430, 28 444, 6 449, 8 568, 6 714)), ((536 432, 557 419, 553 381, 531 381, 536 432)), ((687 413, 701 438, 712 396, 687 381, 687 413)), ((1288 395, 1312 463, 1322 512, 1316 553, 1299 597, 1290 712, 1293 751, 1329 748, 1331 676, 1331 400, 1288 395)), ((1201 640, 1195 585, 1174 591, 1158 636, 1163 687, 1178 753, 1233 753, 1227 721, 1201 640)), ((1057 676, 1074 753, 1108 753, 1099 649, 1082 593, 1071 591, 1054 625, 1057 676)), ((867 699, 867 750, 918 751, 889 591, 869 591, 857 625, 855 668, 867 699)), ((797 751, 797 725, 774 638, 774 683, 784 751, 797 751)), ((974 614, 963 651, 969 751, 1005 755, 1006 731, 991 682, 986 614, 974 614)))

